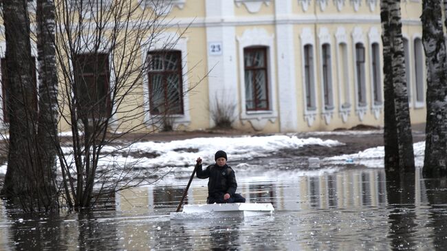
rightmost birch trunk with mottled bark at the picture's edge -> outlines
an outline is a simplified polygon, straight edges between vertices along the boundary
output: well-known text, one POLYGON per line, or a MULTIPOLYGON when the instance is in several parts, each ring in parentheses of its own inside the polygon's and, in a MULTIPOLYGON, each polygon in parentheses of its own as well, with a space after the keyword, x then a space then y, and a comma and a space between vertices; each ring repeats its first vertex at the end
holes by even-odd
POLYGON ((426 177, 447 175, 447 82, 446 45, 441 1, 422 1, 422 41, 427 68, 427 117, 423 173, 426 177))

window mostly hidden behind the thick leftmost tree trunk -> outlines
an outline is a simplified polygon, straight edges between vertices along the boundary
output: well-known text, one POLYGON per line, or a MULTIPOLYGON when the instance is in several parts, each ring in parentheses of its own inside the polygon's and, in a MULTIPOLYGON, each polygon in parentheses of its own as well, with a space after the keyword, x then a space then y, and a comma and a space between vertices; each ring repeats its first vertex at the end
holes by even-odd
MULTIPOLYGON (((38 111, 37 108, 37 78, 36 78, 36 58, 34 56, 31 57, 31 76, 32 81, 34 83, 34 98, 33 98, 33 107, 34 111, 38 111)), ((6 91, 6 87, 9 85, 8 80, 8 60, 6 58, 1 58, 1 93, 3 94, 2 102, 3 102, 3 122, 10 122, 9 113, 10 110, 8 107, 8 99, 10 95, 6 91)))

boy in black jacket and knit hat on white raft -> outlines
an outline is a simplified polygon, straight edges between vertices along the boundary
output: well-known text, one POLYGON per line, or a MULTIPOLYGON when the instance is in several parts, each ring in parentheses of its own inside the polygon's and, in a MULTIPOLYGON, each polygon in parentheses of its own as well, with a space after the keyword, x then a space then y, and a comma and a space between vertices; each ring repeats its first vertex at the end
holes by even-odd
POLYGON ((208 198, 206 203, 235 203, 246 202, 246 198, 236 193, 237 182, 235 171, 228 166, 227 154, 224 151, 217 151, 214 157, 216 164, 201 169, 201 158, 197 158, 195 170, 199 179, 208 179, 208 198))

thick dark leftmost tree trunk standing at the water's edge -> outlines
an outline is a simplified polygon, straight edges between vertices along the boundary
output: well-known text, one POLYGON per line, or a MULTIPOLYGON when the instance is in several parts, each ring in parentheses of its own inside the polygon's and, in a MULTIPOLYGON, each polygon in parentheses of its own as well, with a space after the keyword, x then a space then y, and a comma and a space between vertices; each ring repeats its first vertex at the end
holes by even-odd
POLYGON ((41 208, 48 204, 41 192, 42 173, 36 164, 36 98, 31 61, 30 17, 28 1, 3 1, 6 34, 6 109, 10 138, 8 169, 2 194, 23 208, 41 208), (34 177, 39 177, 35 179, 34 177))

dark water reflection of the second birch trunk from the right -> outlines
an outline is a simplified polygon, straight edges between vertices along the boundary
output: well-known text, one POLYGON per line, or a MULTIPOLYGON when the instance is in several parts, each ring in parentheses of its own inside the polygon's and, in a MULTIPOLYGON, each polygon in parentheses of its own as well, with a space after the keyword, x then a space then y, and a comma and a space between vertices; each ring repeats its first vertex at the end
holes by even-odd
POLYGON ((386 181, 386 196, 390 207, 389 237, 393 250, 415 247, 415 175, 401 175, 400 181, 386 181))

